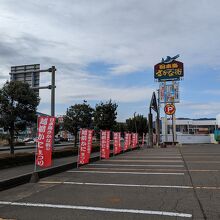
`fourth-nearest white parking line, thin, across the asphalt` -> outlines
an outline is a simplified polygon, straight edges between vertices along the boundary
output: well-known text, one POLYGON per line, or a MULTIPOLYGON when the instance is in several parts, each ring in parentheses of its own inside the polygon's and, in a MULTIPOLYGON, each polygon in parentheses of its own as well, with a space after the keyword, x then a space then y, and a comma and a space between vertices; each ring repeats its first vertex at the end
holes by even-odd
POLYGON ((144 164, 144 165, 140 165, 140 164, 110 164, 110 163, 94 163, 94 164, 87 164, 88 166, 116 166, 116 167, 184 167, 183 165, 158 165, 158 164, 144 164))

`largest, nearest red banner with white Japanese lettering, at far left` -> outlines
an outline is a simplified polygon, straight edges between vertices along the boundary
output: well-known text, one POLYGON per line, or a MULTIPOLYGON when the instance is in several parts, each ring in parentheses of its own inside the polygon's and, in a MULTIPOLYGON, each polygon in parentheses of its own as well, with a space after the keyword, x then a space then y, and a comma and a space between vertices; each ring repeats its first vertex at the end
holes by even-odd
POLYGON ((40 167, 49 167, 52 164, 54 126, 55 117, 38 117, 36 165, 40 167))

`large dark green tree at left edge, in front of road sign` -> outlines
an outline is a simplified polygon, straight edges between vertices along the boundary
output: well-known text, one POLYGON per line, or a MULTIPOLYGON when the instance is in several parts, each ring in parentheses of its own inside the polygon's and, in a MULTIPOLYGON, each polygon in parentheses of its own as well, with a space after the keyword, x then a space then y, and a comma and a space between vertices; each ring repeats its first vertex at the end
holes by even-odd
POLYGON ((0 126, 9 131, 10 152, 14 154, 14 136, 36 122, 40 99, 27 83, 6 82, 0 89, 0 126))

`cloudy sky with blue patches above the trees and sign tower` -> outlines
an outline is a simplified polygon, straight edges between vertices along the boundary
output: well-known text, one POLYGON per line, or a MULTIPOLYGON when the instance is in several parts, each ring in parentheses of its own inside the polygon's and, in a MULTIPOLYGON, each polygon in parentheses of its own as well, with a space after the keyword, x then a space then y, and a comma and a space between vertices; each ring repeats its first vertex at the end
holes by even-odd
MULTIPOLYGON (((1 0, 0 85, 10 66, 40 63, 56 74, 56 114, 75 103, 114 100, 118 121, 147 115, 153 67, 180 54, 177 117, 220 113, 218 0, 1 0)), ((50 75, 41 75, 48 85, 50 75)), ((50 91, 39 111, 50 113, 50 91)), ((162 109, 161 109, 162 112, 162 109)))

